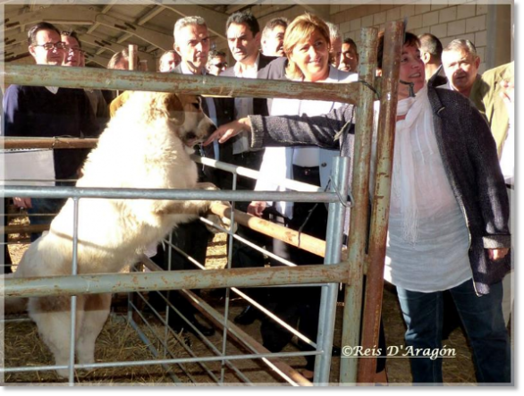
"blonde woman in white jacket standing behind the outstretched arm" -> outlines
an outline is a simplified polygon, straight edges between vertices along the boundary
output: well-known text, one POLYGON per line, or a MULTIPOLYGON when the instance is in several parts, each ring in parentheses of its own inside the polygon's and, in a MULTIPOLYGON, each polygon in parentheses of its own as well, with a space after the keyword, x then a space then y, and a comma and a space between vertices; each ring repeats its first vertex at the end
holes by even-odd
MULTIPOLYGON (((305 13, 295 18, 288 26, 283 38, 285 58, 269 63, 268 79, 285 78, 309 82, 350 82, 357 80, 357 74, 342 72, 330 65, 329 28, 325 21, 314 14, 305 13), (284 71, 285 67, 285 72, 284 71), (279 75, 280 74, 280 75, 279 75), (285 77, 283 77, 285 74, 285 77)), ((264 72, 262 72, 264 73, 264 72)), ((329 113, 342 103, 275 98, 268 101, 271 115, 329 113)), ((255 190, 285 190, 275 184, 283 178, 303 181, 325 187, 331 172, 332 157, 337 150, 318 147, 268 147, 260 167, 260 176, 255 190)), ((278 212, 278 220, 293 230, 300 230, 320 239, 325 239, 327 211, 325 205, 292 202, 251 202, 248 213, 261 216, 270 206, 278 212)), ((292 248, 282 241, 274 241, 275 254, 289 259, 297 265, 321 263, 322 258, 304 250, 292 248)), ((286 323, 298 327, 300 333, 311 341, 317 339, 320 288, 279 289, 282 296, 276 298, 274 312, 286 323)), ((280 351, 292 340, 292 333, 283 330, 272 320, 263 320, 261 326, 264 346, 274 352, 280 351)), ((310 349, 308 345, 300 345, 310 349)), ((308 365, 304 375, 312 377, 315 357, 307 357, 308 365)))

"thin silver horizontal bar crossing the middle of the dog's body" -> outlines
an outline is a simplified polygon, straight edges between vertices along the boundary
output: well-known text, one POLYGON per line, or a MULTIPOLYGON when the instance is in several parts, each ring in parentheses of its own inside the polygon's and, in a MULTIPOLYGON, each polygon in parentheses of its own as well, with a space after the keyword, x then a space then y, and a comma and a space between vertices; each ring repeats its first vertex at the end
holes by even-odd
POLYGON ((112 199, 173 199, 211 201, 288 201, 288 202, 336 202, 333 192, 296 191, 233 191, 233 190, 182 190, 182 189, 100 189, 50 186, 3 186, 4 197, 29 198, 112 198, 112 199))

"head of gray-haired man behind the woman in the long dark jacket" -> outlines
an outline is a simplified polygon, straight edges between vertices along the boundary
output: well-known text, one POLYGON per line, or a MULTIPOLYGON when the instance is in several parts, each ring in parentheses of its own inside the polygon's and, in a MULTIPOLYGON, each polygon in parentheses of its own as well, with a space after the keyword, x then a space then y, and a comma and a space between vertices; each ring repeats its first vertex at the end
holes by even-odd
POLYGON ((448 78, 446 88, 456 90, 464 97, 470 97, 480 83, 480 57, 475 45, 466 39, 453 40, 444 48, 442 63, 448 78))

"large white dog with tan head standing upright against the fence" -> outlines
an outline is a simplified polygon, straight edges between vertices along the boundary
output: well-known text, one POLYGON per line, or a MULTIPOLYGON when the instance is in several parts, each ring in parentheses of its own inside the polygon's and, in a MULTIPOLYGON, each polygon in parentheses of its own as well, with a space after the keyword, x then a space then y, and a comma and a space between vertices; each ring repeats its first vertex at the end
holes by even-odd
MULTIPOLYGON (((216 189, 198 183, 189 149, 215 130, 199 108, 200 98, 135 92, 116 112, 89 154, 77 187, 138 189, 216 189)), ((212 202, 152 199, 81 198, 78 273, 115 273, 132 265, 148 245, 173 226, 204 214, 212 202)), ((30 245, 14 277, 72 274, 73 202, 68 199, 50 231, 30 245)), ((109 314, 111 295, 77 299, 76 354, 94 362, 95 341, 109 314)), ((13 299, 12 304, 20 303, 13 299)), ((9 299, 6 300, 9 307, 9 299)), ((9 311, 9 308, 6 309, 9 311)), ((55 355, 69 362, 70 298, 30 298, 30 317, 55 355)), ((58 370, 68 375, 68 370, 58 370)))

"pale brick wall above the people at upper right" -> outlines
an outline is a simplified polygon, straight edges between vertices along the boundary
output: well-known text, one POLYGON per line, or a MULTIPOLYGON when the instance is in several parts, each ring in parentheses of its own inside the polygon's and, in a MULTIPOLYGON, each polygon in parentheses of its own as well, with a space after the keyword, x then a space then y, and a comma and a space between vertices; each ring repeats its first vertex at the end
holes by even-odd
MULTIPOLYGON (((442 2, 439 2, 442 3, 442 2)), ((342 32, 342 37, 353 38, 357 44, 360 29, 385 28, 385 22, 408 19, 408 30, 418 35, 432 33, 446 46, 455 38, 467 38, 477 47, 480 56, 479 72, 486 70, 487 5, 478 2, 463 4, 366 4, 330 6, 330 20, 342 32)))

